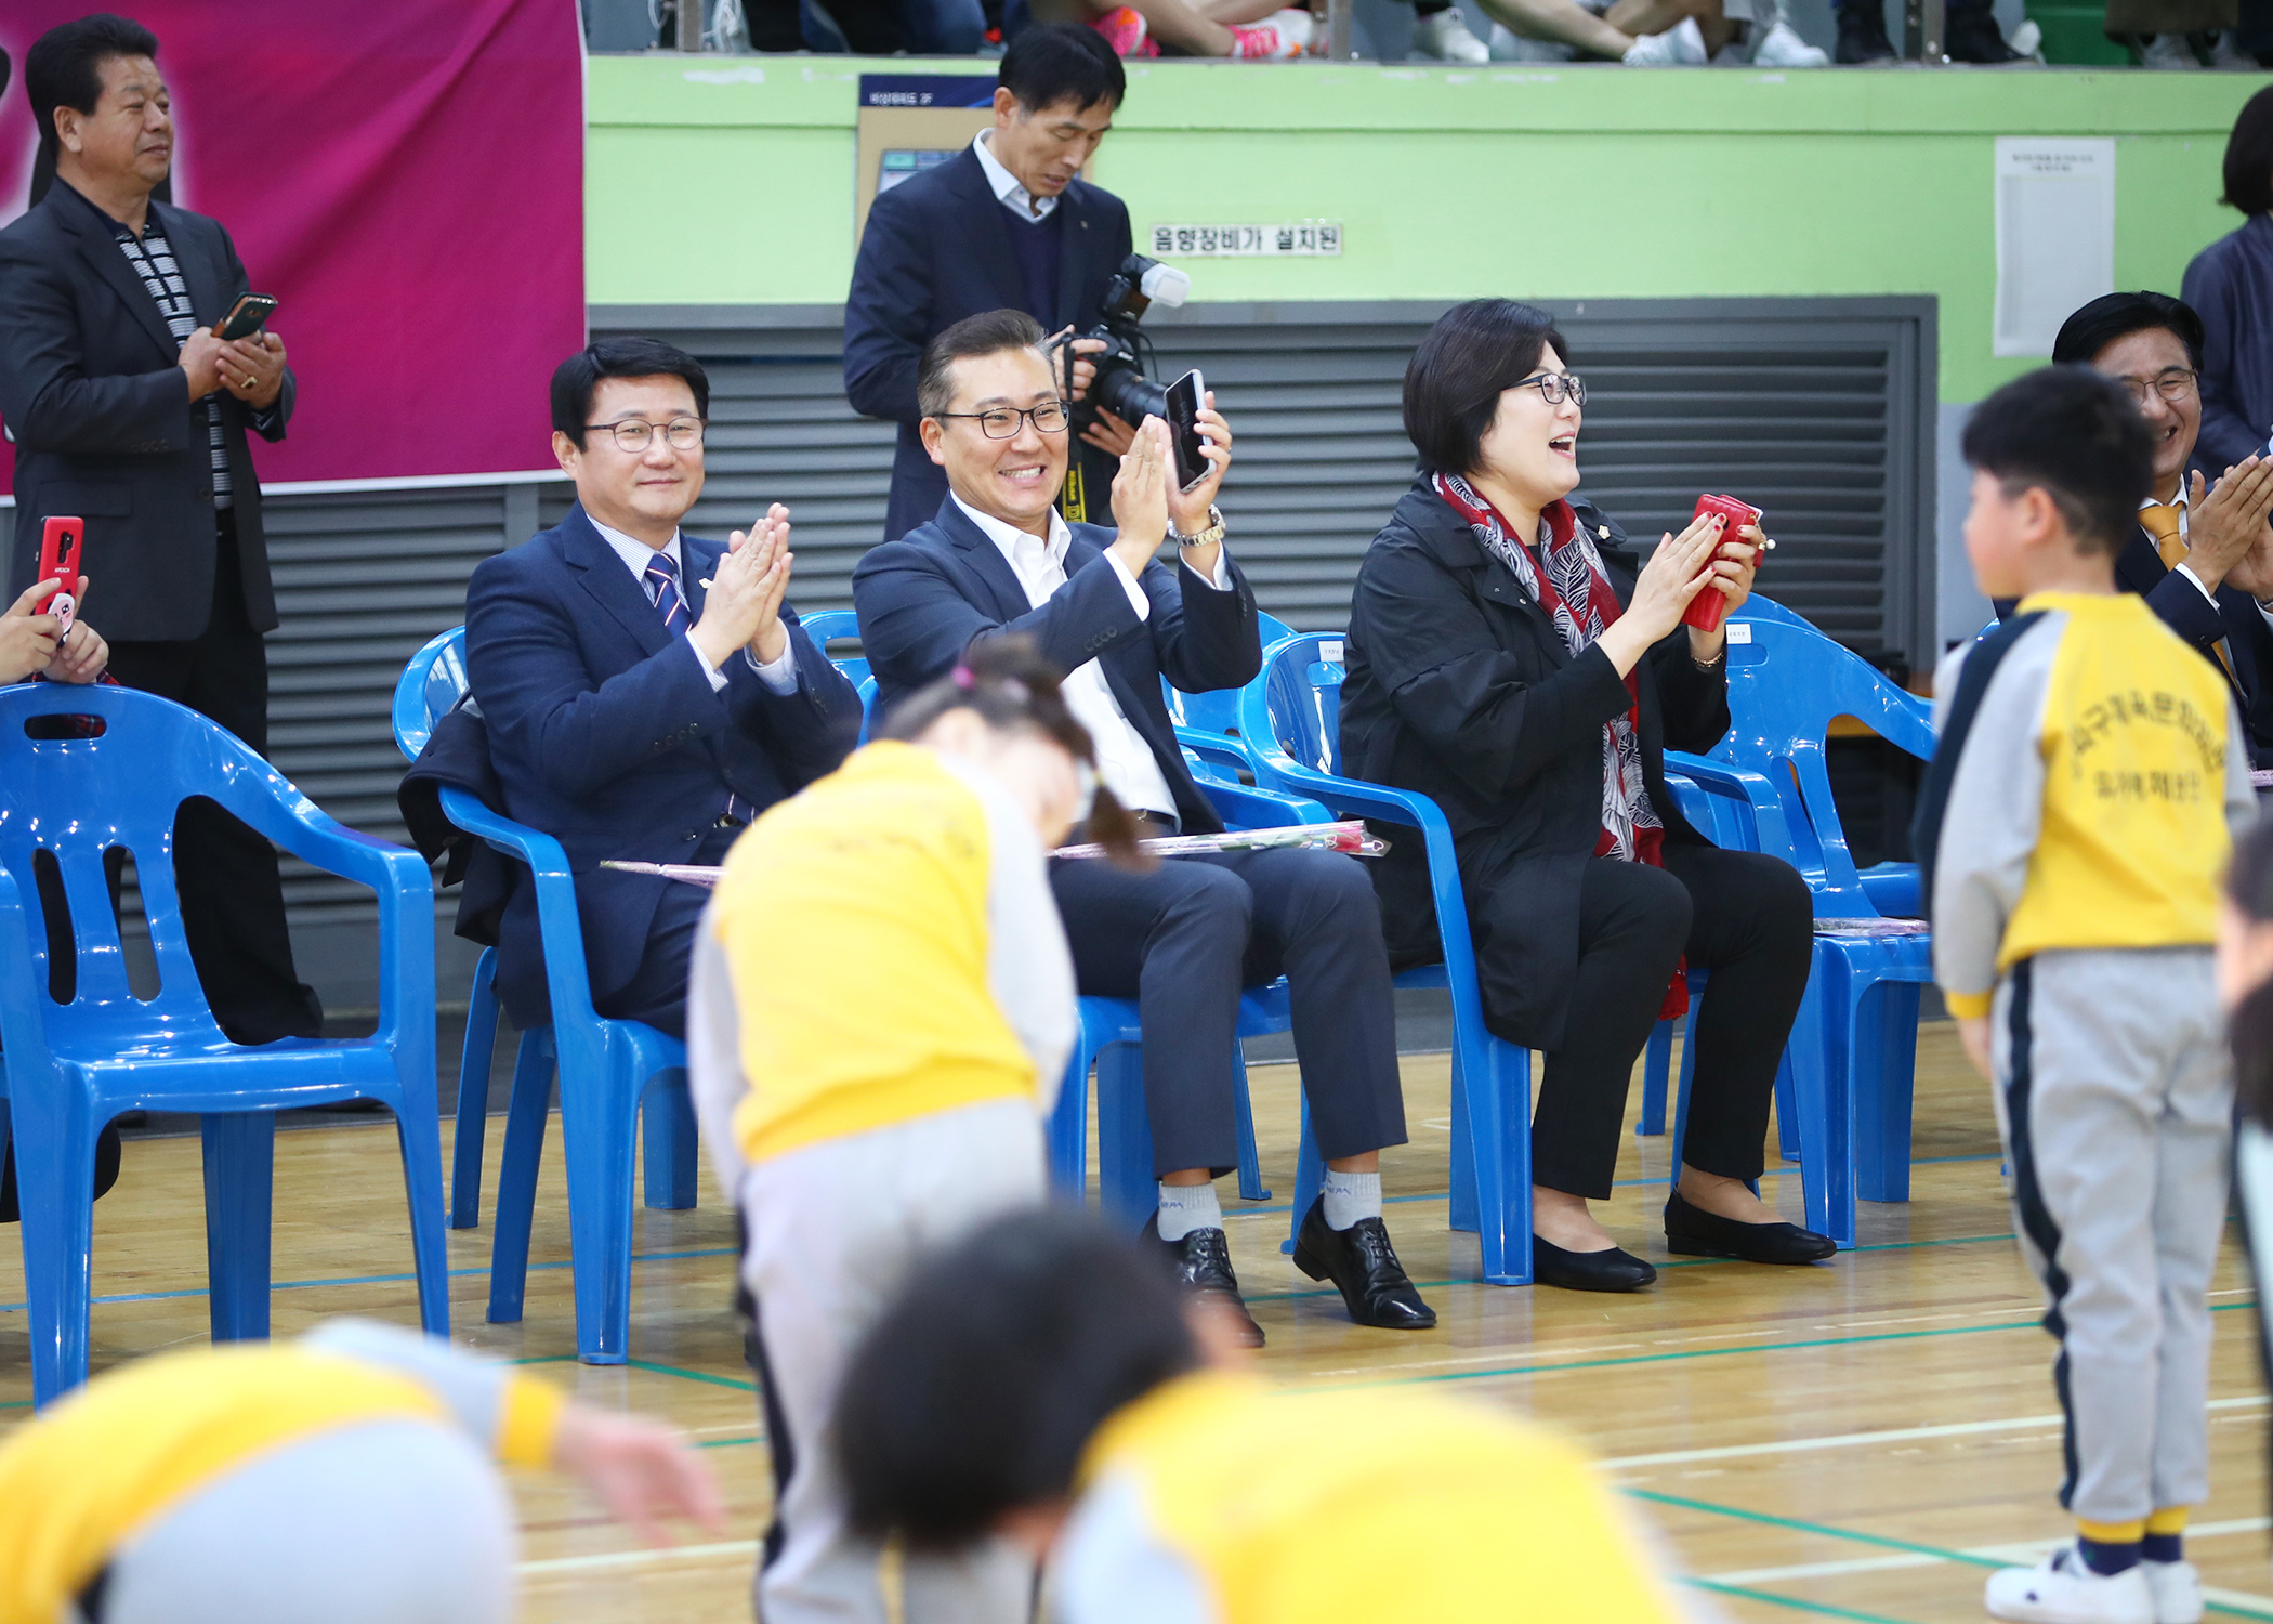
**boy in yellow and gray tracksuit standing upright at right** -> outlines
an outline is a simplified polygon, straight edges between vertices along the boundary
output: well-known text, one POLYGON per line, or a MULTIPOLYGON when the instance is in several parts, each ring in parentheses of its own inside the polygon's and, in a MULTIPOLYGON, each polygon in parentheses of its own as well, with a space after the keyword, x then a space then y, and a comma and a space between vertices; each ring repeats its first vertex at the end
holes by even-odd
POLYGON ((2046 368, 1966 425, 1966 553, 2018 610, 1934 678, 1914 848, 1934 978, 1991 1080, 2043 1283, 2078 1538, 1989 1579, 2000 1619, 2193 1624, 2209 1492, 2209 1271, 2232 1071, 2212 983, 2230 830, 2255 819, 2218 669, 2114 557, 2153 480, 2121 384, 2046 368))

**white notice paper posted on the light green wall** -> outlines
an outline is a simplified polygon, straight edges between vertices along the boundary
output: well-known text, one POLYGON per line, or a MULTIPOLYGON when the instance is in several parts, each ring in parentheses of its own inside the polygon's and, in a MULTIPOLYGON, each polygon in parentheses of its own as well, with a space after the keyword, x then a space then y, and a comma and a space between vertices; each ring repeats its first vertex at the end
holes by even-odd
POLYGON ((2116 291, 2116 143, 1998 136, 1993 355, 2053 355, 2068 314, 2116 291))

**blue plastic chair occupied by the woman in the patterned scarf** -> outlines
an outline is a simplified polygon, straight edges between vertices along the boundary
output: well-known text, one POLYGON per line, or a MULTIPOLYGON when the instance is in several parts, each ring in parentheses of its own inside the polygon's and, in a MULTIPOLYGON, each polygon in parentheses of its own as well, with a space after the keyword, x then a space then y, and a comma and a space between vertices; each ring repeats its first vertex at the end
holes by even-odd
MULTIPOLYGON (((1441 962, 1409 969, 1398 987, 1452 994, 1452 1228, 1477 1231, 1484 1278, 1532 1283, 1532 1055, 1484 1030, 1475 946, 1459 887, 1452 830, 1427 796, 1339 773, 1341 637, 1296 632, 1264 651, 1259 682, 1241 689, 1239 732, 1268 789, 1318 801, 1334 817, 1366 817, 1421 830, 1437 901, 1441 962)), ((1302 1119, 1293 1224, 1318 1194, 1325 1165, 1302 1119)))

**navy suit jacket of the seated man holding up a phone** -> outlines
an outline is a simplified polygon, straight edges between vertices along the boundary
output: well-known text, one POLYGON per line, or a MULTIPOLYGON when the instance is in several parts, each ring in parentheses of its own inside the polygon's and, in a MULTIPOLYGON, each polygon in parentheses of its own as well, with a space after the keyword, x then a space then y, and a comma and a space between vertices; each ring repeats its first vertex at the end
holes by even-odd
POLYGON ((932 523, 868 548, 852 571, 852 607, 875 676, 877 714, 943 678, 982 637, 1032 637, 1059 671, 1096 660, 1121 714, 1152 746, 1184 832, 1214 835, 1223 819, 1184 767, 1159 680, 1187 694, 1250 682, 1264 664, 1255 589, 1239 564, 1230 566, 1230 591, 1184 566, 1171 573, 1146 564, 1136 582, 1152 610, 1139 621, 1105 557, 1111 539, 1102 525, 1073 525, 1066 585, 1039 610, 1027 607, 1009 560, 952 496, 932 523))

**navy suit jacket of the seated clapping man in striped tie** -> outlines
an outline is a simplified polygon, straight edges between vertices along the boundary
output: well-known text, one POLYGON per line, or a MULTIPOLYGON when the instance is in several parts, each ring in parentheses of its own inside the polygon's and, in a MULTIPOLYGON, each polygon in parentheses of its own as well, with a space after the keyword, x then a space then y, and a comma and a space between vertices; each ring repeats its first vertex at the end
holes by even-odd
MULTIPOLYGON (((680 535, 680 553, 686 607, 702 619, 702 580, 725 544, 680 535)), ((566 848, 598 999, 630 985, 655 905, 675 885, 600 860, 686 862, 730 792, 764 812, 834 771, 859 737, 859 694, 789 605, 782 623, 796 691, 775 694, 739 653, 714 691, 582 505, 473 571, 466 676, 505 812, 566 848)), ((514 1026, 548 1019, 530 885, 514 889, 498 930, 498 996, 514 1026)))

